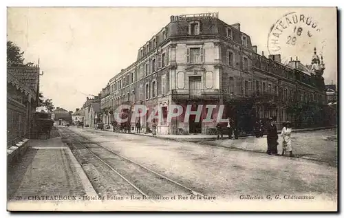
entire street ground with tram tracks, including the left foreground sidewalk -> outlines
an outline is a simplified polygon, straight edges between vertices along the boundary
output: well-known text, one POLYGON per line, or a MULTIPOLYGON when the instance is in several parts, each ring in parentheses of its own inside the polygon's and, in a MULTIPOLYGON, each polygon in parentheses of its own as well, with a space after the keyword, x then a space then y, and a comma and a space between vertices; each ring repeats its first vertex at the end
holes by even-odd
MULTIPOLYGON (((333 133, 319 132, 314 134, 325 138, 333 133)), ((10 201, 92 201, 103 196, 103 201, 125 204, 192 195, 215 202, 279 195, 337 201, 337 168, 323 161, 88 128, 58 127, 52 135, 49 141, 32 142, 21 162, 9 169, 10 201)), ((294 134, 299 142, 312 136, 294 134)), ((246 142, 250 140, 257 138, 246 142)), ((233 146, 235 140, 231 142, 233 146)))

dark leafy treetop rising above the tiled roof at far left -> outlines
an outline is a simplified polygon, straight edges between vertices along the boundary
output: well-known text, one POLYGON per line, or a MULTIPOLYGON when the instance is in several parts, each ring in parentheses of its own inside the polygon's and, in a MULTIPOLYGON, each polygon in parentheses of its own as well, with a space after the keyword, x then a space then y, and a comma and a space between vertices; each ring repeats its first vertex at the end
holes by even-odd
POLYGON ((29 62, 24 64, 24 52, 21 52, 21 47, 17 46, 12 41, 7 41, 7 66, 8 67, 32 67, 34 63, 29 62))

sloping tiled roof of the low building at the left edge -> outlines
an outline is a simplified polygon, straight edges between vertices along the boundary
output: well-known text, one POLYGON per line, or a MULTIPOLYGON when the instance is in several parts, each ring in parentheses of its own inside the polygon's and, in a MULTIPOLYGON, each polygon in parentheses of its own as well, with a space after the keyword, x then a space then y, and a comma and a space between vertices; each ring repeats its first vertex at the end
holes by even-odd
POLYGON ((39 67, 8 67, 7 71, 35 93, 39 91, 39 67))

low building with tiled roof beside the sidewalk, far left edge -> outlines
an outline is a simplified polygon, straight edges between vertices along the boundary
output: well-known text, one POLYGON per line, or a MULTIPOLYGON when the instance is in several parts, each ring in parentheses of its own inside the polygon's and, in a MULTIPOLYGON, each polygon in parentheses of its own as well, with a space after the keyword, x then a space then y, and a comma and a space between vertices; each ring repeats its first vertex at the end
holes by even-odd
POLYGON ((7 68, 8 146, 30 138, 33 113, 39 106, 39 66, 7 68))

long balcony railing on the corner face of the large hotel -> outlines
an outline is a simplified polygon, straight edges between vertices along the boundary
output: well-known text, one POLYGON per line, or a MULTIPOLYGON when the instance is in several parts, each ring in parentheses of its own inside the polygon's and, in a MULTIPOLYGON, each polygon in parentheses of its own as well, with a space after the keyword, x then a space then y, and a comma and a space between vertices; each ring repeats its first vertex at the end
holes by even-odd
POLYGON ((173 89, 173 100, 216 100, 221 97, 219 89, 173 89))

